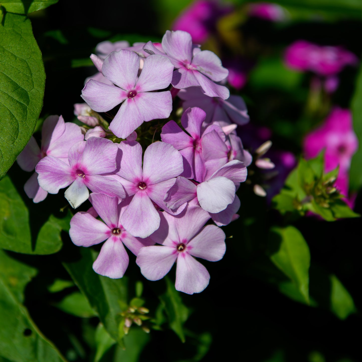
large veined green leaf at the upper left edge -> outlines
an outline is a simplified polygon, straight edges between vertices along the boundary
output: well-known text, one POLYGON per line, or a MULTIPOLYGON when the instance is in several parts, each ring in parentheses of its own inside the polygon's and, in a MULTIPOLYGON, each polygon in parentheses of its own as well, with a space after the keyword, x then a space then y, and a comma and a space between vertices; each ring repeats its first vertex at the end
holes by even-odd
POLYGON ((42 54, 26 16, 4 14, 0 55, 1 180, 28 143, 43 105, 42 54))

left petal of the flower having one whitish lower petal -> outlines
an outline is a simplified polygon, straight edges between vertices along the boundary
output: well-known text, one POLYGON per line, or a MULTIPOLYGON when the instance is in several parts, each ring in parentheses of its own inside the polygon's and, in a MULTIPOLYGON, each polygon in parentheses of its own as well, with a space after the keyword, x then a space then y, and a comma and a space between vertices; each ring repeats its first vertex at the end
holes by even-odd
POLYGON ((59 189, 70 185, 74 178, 72 169, 56 157, 46 156, 35 167, 38 182, 43 190, 57 194, 59 189))

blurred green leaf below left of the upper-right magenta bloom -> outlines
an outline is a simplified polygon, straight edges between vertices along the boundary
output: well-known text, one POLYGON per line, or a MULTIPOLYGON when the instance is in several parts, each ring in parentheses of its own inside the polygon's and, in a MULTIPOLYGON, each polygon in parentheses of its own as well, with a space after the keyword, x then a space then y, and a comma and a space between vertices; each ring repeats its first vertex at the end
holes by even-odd
POLYGON ((289 92, 298 87, 303 74, 287 68, 280 57, 261 60, 251 71, 249 83, 254 88, 275 88, 289 92))

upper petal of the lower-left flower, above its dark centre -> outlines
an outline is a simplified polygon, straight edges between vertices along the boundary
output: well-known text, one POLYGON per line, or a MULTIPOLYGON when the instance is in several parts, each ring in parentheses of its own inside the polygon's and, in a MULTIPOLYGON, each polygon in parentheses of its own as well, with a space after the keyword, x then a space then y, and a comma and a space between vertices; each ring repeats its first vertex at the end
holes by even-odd
POLYGON ((89 195, 89 201, 107 226, 111 229, 118 227, 117 197, 108 197, 103 194, 92 193, 89 195))

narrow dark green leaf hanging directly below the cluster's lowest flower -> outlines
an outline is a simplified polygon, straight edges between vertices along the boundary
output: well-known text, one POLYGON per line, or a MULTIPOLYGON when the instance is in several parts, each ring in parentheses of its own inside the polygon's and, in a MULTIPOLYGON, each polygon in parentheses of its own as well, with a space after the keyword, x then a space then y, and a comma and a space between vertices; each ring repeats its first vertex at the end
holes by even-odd
POLYGON ((174 284, 166 276, 166 292, 159 296, 159 299, 165 307, 168 316, 170 328, 177 334, 182 342, 185 342, 185 333, 183 324, 188 318, 188 308, 182 303, 180 293, 175 289, 174 284))

